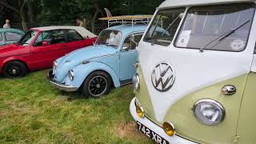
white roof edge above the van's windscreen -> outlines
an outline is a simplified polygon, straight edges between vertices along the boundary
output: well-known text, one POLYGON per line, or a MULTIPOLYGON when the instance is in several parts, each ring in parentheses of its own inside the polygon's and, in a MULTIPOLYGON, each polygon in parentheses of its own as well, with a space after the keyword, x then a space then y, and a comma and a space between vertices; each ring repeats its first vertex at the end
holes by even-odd
POLYGON ((166 0, 165 2, 162 2, 158 9, 184 6, 217 5, 238 2, 256 2, 256 0, 166 0))

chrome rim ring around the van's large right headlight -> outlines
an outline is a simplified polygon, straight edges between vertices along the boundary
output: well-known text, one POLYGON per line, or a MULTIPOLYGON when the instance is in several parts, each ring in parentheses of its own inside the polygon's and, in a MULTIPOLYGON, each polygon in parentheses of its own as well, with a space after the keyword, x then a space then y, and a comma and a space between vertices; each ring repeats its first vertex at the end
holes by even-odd
POLYGON ((225 115, 226 115, 226 111, 225 111, 224 106, 222 106, 222 104, 220 102, 217 102, 213 99, 201 99, 201 100, 199 100, 198 102, 196 102, 194 104, 193 112, 194 112, 195 118, 197 118, 199 122, 201 122, 202 124, 205 124, 207 126, 216 126, 216 125, 220 124, 224 120, 225 115), (222 117, 217 122, 210 122, 210 121, 209 122, 204 122, 202 119, 200 119, 198 117, 198 114, 196 114, 197 106, 199 106, 202 103, 210 103, 210 104, 213 104, 212 106, 217 106, 217 108, 222 112, 222 115, 221 115, 222 117))

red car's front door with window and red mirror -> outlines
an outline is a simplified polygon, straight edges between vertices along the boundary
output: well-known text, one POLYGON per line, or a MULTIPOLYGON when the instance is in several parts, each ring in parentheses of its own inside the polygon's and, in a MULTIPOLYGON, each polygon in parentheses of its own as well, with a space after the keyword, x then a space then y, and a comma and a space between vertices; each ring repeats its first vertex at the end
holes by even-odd
POLYGON ((54 60, 66 54, 66 49, 65 30, 43 31, 31 46, 33 66, 36 68, 52 66, 54 60))

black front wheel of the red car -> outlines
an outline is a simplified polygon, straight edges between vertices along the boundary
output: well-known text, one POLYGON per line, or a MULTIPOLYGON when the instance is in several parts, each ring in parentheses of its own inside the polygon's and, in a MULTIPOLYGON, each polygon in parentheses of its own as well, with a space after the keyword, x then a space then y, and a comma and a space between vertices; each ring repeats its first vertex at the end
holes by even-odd
POLYGON ((26 65, 22 62, 12 61, 3 66, 2 74, 6 78, 19 78, 26 75, 26 65))

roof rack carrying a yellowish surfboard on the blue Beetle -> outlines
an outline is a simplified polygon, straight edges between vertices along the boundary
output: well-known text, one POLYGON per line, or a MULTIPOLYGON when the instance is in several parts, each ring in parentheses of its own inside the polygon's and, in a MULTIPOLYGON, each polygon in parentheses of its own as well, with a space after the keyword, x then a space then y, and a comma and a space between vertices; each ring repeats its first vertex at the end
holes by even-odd
MULTIPOLYGON (((98 18, 99 20, 108 21, 108 27, 114 24, 119 25, 136 25, 138 23, 148 25, 153 15, 126 15, 110 18, 98 18)), ((116 26, 116 25, 115 25, 116 26)))

